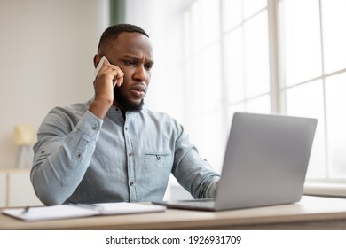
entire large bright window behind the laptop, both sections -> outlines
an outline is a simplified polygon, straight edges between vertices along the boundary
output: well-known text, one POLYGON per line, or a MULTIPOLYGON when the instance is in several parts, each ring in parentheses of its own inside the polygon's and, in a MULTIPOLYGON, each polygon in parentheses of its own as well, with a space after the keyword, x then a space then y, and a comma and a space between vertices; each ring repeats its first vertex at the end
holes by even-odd
POLYGON ((233 112, 279 112, 318 118, 308 181, 344 182, 345 11, 343 0, 194 0, 185 8, 187 128, 217 169, 233 112))

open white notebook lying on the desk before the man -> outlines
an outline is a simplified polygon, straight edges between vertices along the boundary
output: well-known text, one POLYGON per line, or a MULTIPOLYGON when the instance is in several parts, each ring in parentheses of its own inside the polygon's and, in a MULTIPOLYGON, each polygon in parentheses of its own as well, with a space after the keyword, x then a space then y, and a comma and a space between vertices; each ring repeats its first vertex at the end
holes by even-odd
POLYGON ((163 212, 166 207, 138 203, 100 203, 93 205, 51 205, 26 208, 8 208, 3 213, 23 221, 49 221, 95 215, 163 212))

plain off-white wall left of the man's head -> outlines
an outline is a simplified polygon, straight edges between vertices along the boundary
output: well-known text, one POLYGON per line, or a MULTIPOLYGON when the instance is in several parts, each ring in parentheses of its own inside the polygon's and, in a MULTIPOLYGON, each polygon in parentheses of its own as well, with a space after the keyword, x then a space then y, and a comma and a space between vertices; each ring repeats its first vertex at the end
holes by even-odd
POLYGON ((107 0, 0 0, 0 167, 14 167, 16 124, 92 96, 107 0))

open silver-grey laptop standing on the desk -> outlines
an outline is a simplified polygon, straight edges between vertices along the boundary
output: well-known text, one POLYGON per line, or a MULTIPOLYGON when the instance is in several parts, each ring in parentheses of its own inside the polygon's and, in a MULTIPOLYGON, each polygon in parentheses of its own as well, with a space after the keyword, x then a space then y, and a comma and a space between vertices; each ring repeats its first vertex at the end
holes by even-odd
POLYGON ((153 204, 223 211, 298 202, 316 126, 312 118, 235 112, 216 198, 153 204))

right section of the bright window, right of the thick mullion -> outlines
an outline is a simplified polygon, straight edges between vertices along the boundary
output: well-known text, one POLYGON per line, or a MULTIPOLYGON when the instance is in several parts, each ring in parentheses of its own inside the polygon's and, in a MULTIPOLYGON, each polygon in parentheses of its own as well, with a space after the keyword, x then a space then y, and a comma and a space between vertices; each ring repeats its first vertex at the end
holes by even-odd
POLYGON ((282 0, 283 112, 318 118, 310 179, 346 178, 346 35, 342 0, 282 0))

